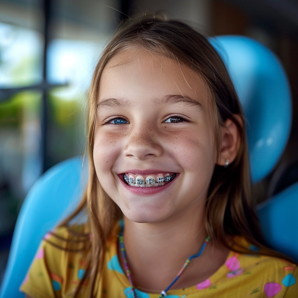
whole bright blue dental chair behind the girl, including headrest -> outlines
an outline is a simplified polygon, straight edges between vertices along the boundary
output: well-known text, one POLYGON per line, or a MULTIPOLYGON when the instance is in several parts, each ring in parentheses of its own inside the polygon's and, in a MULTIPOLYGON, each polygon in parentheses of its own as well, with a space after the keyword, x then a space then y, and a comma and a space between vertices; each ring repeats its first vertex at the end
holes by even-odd
MULTIPOLYGON (((252 180, 274 168, 291 128, 291 94, 279 60, 266 47, 241 36, 210 39, 232 77, 247 119, 252 180)), ((24 297, 18 288, 42 237, 74 210, 86 185, 86 162, 60 162, 29 191, 15 225, 0 298, 24 297)), ((298 184, 258 207, 268 244, 298 261, 298 184)))

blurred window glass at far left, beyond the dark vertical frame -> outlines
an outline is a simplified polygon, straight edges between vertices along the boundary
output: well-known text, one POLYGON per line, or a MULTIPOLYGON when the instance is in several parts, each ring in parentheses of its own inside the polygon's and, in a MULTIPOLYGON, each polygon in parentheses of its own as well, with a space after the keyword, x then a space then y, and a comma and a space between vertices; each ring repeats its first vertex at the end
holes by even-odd
MULTIPOLYGON (((0 23, 0 88, 42 80, 42 35, 0 23)), ((0 98, 0 235, 13 228, 18 206, 41 174, 37 91, 0 98)))

